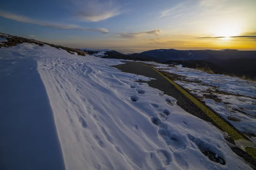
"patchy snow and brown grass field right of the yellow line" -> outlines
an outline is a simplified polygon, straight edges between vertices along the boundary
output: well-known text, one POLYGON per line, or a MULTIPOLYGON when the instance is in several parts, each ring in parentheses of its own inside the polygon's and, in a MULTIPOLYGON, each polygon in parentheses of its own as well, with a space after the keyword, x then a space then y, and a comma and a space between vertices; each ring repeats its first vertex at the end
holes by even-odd
POLYGON ((154 62, 145 63, 152 64, 161 71, 183 76, 175 81, 178 85, 201 98, 239 131, 256 135, 256 82, 221 74, 207 74, 181 65, 170 67, 154 62), (209 94, 216 99, 209 99, 209 94), (228 116, 240 122, 229 120, 228 116))

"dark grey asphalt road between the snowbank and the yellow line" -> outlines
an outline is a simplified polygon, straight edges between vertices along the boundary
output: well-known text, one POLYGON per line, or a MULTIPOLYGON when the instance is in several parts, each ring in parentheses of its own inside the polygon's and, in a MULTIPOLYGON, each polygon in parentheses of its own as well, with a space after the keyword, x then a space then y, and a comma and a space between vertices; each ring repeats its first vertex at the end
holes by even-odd
MULTIPOLYGON (((120 65, 116 65, 114 67, 117 68, 119 66, 120 65)), ((160 91, 163 91, 165 94, 174 97, 177 99, 177 105, 179 105, 185 111, 207 122, 211 122, 213 125, 218 127, 218 125, 216 125, 215 122, 209 118, 209 116, 207 116, 200 108, 198 108, 197 105, 195 105, 190 99, 188 99, 177 88, 175 88, 167 79, 165 79, 153 69, 136 62, 126 62, 126 64, 121 65, 118 69, 127 73, 139 74, 146 77, 155 78, 156 80, 147 82, 150 87, 157 88, 160 91)))

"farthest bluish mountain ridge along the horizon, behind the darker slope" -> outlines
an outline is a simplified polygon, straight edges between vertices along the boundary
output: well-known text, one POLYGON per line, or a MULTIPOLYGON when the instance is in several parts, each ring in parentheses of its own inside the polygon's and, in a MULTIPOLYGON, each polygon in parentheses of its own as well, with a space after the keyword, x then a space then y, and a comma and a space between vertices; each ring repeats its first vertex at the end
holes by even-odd
POLYGON ((166 62, 169 60, 207 60, 214 59, 239 59, 256 58, 256 51, 239 51, 236 49, 223 50, 176 50, 176 49, 155 49, 134 54, 122 54, 114 50, 91 50, 82 49, 88 54, 96 54, 99 51, 105 51, 104 58, 131 59, 142 61, 166 62))

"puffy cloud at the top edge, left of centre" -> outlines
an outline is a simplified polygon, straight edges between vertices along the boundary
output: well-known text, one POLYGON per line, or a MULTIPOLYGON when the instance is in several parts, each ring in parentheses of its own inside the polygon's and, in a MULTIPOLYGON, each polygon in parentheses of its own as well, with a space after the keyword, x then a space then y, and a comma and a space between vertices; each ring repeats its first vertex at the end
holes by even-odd
POLYGON ((71 0, 80 20, 97 22, 121 14, 113 0, 71 0))

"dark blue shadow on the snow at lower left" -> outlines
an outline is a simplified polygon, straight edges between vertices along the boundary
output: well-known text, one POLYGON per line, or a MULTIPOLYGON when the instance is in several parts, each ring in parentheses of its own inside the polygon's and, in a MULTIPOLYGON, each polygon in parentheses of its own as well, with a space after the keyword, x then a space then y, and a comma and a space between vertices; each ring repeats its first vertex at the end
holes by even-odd
POLYGON ((65 169, 52 109, 33 59, 0 60, 0 169, 65 169))

